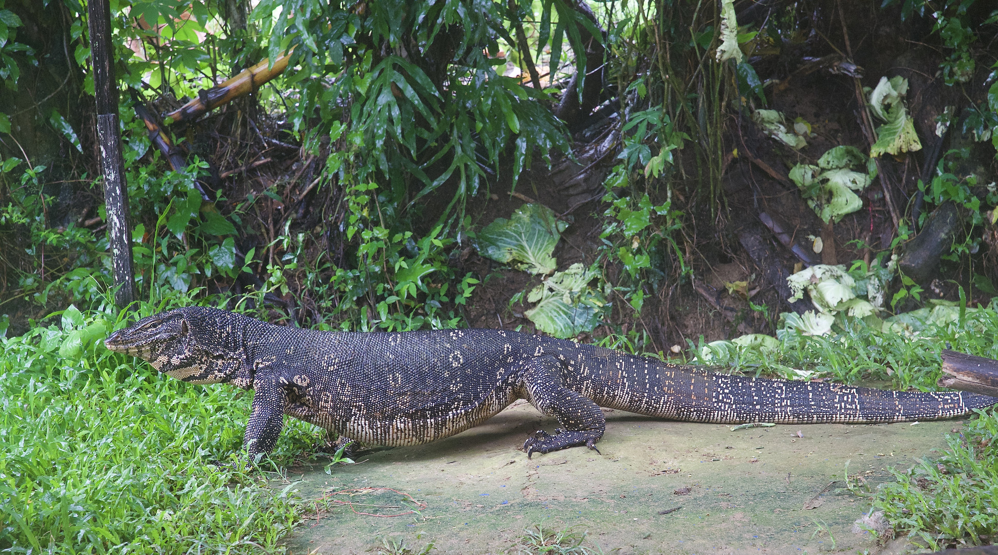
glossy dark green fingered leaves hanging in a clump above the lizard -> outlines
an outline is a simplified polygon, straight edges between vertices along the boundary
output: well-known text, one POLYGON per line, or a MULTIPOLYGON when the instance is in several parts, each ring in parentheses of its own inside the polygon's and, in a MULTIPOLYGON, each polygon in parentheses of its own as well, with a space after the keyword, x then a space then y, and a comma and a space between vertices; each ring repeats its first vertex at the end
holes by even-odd
POLYGON ((504 3, 461 0, 379 2, 363 16, 346 4, 265 0, 252 14, 271 59, 296 47, 292 64, 302 69, 286 80, 300 88, 294 128, 317 111, 320 131, 328 129, 341 118, 329 107, 346 104, 344 123, 360 134, 357 179, 387 180, 389 217, 448 180, 457 192, 447 212, 463 209, 486 176, 479 153, 498 169, 511 145, 515 183, 535 151, 569 150, 563 126, 542 104, 546 94, 498 75, 486 55, 500 39, 512 44, 507 16, 504 3), (410 176, 418 190, 409 189, 410 176))

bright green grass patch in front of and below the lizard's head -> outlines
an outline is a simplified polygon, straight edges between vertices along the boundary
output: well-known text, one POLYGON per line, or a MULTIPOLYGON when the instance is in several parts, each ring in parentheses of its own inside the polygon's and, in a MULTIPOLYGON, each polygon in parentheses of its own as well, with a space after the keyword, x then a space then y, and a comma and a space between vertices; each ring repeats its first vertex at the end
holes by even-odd
MULTIPOLYGON (((242 471, 251 394, 168 379, 102 346, 64 358, 68 335, 50 325, 0 339, 0 551, 274 549, 298 512, 242 471)), ((300 425, 284 435, 282 463, 310 440, 300 425)))

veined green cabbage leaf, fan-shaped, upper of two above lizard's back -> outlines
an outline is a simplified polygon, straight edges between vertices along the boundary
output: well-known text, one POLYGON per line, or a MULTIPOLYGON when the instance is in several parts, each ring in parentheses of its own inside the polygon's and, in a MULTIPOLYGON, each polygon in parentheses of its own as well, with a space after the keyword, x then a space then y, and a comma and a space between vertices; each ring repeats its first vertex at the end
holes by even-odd
POLYGON ((478 233, 478 252, 500 263, 519 261, 518 270, 548 275, 558 262, 551 257, 568 223, 541 205, 524 205, 506 220, 497 218, 478 233))

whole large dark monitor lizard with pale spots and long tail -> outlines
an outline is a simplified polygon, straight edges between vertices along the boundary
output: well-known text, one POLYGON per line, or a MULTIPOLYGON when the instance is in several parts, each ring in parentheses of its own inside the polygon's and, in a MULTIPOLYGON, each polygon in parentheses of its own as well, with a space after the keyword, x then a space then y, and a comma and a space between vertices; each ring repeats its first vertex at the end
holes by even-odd
POLYGON ((516 399, 563 429, 528 455, 595 449, 600 406, 692 422, 897 422, 949 418, 998 398, 717 374, 593 345, 499 329, 312 331, 189 306, 112 333, 113 351, 191 383, 254 389, 246 441, 269 452, 283 415, 362 443, 413 445, 480 424, 516 399))

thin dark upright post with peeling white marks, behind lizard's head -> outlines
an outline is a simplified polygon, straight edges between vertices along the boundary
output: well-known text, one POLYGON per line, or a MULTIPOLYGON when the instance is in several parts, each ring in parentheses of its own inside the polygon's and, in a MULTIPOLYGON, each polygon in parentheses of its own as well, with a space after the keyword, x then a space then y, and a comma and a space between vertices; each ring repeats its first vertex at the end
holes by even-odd
POLYGON ((118 83, 115 81, 114 46, 111 44, 111 6, 108 0, 90 0, 90 51, 94 62, 97 97, 97 141, 101 146, 104 201, 108 212, 108 243, 115 275, 115 302, 125 307, 135 300, 132 269, 132 227, 129 225, 125 159, 118 129, 118 83))

